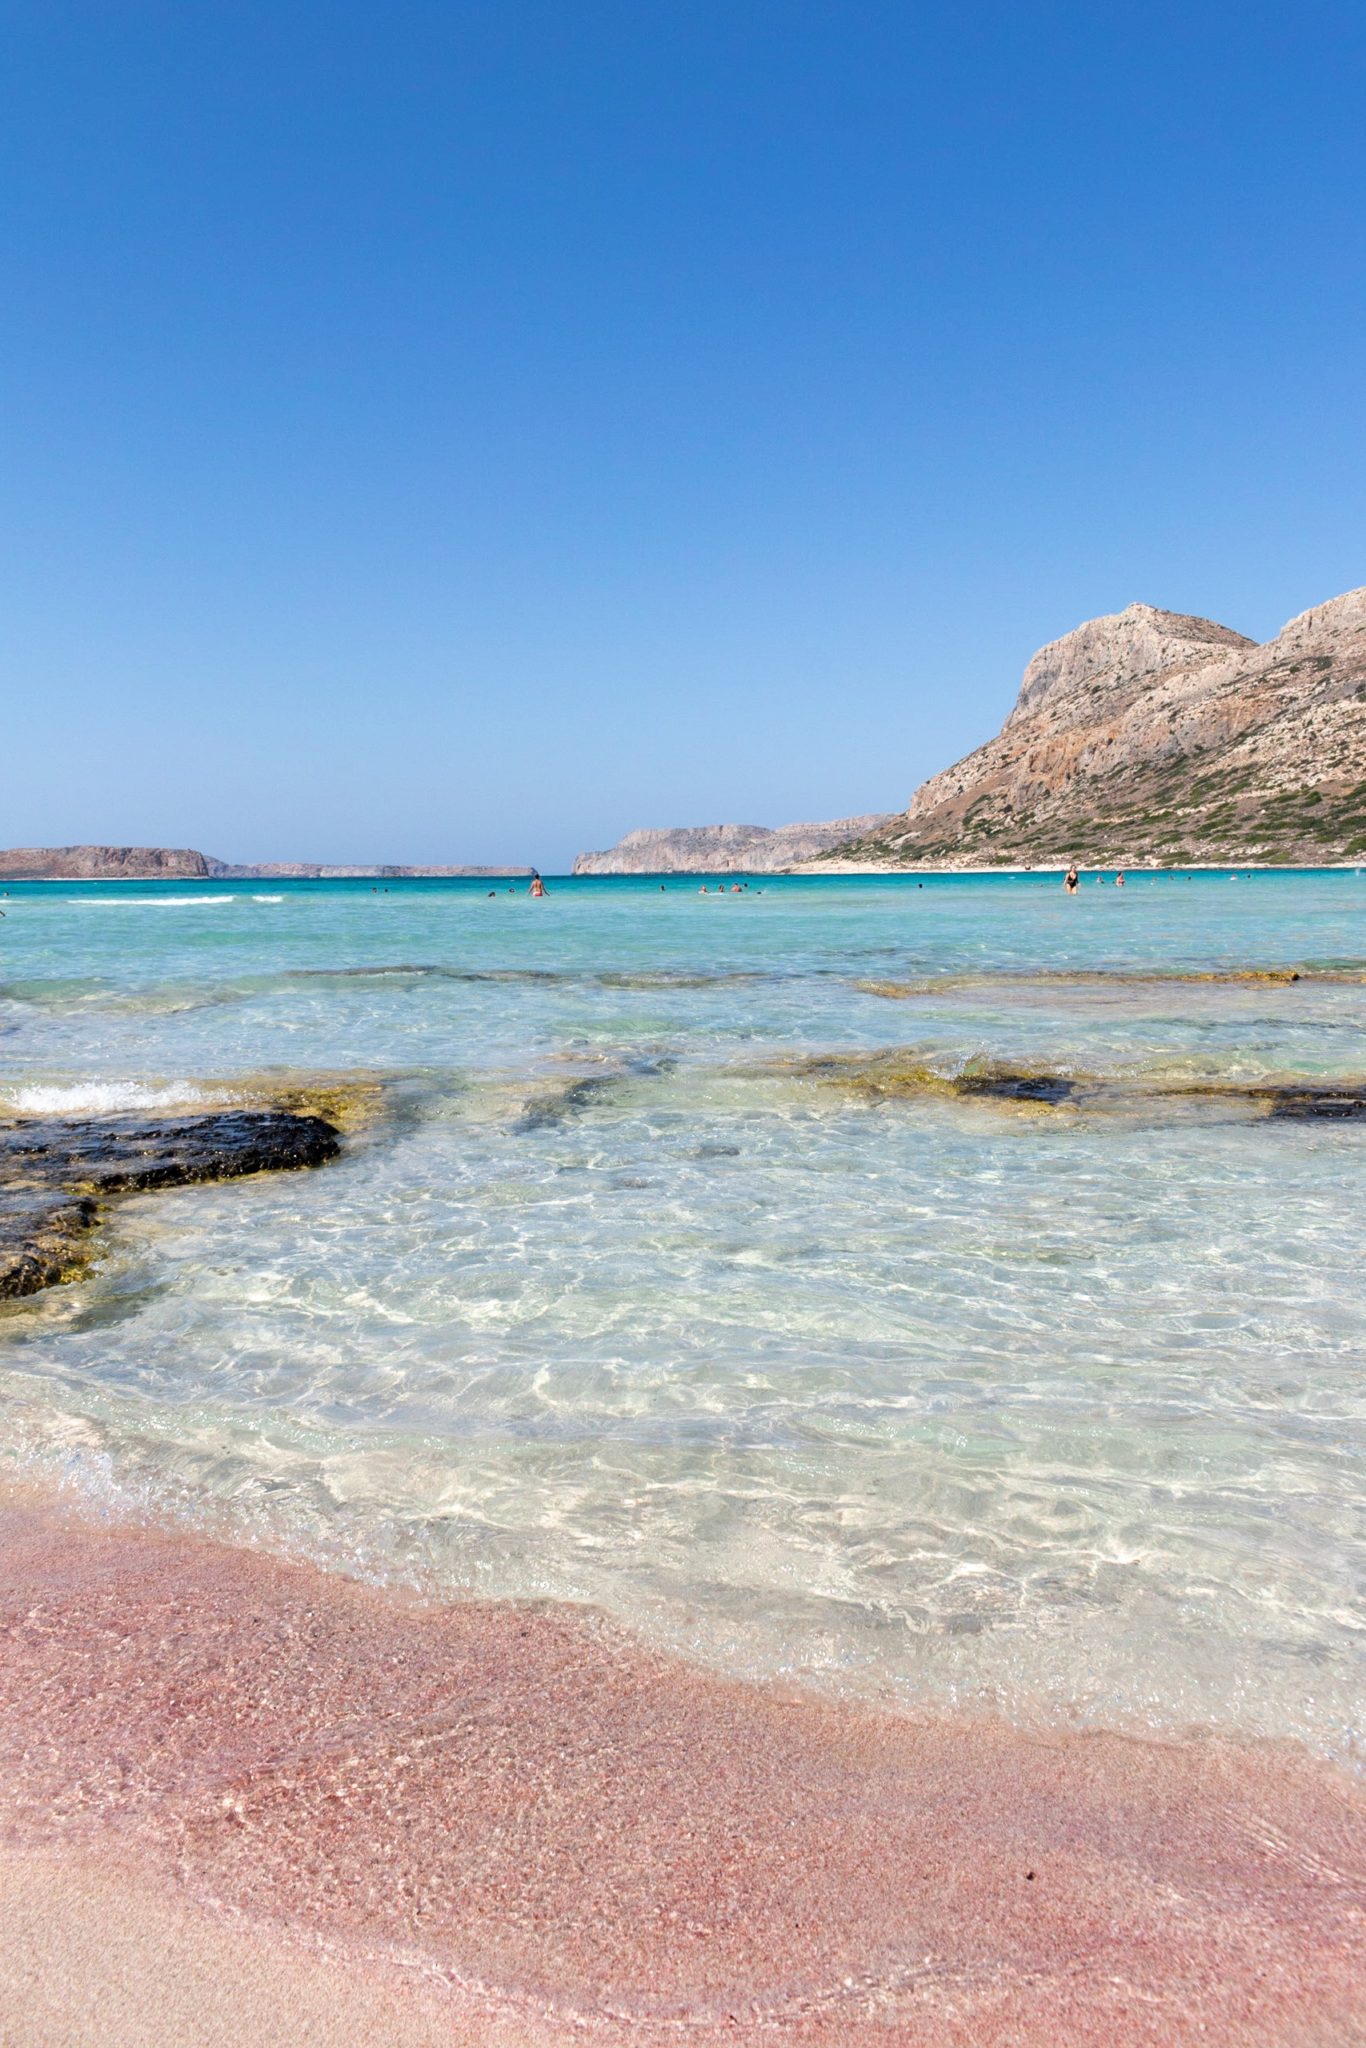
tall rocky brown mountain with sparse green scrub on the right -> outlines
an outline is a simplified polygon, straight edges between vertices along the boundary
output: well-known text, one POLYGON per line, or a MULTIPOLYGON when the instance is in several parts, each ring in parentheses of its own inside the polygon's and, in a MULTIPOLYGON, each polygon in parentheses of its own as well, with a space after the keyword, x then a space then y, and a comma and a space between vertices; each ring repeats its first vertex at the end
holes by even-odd
POLYGON ((1042 647, 995 739, 825 868, 1366 856, 1366 588, 1266 645, 1130 604, 1042 647))

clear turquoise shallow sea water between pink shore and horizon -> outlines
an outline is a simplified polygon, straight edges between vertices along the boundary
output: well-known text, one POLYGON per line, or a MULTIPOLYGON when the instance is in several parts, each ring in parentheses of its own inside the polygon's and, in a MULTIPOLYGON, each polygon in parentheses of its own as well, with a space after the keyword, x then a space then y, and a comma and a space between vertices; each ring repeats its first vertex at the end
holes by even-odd
POLYGON ((10 1108, 385 1079, 338 1165, 129 1202, 92 1280, 8 1309, 8 1456, 727 1669, 1350 1751, 1366 1126, 1143 1090, 1362 1079, 1366 985, 1122 977, 1360 969, 1364 877, 0 907, 10 1108), (1137 1106, 793 1063, 893 1047, 1137 1106))

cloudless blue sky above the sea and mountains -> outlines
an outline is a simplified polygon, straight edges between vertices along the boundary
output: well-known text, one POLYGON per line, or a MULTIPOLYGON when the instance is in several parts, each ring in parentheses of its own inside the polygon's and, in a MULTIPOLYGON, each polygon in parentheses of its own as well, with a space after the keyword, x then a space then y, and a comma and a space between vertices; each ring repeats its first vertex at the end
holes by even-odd
POLYGON ((1366 580, 1360 4, 0 0, 0 844, 899 807, 1366 580))

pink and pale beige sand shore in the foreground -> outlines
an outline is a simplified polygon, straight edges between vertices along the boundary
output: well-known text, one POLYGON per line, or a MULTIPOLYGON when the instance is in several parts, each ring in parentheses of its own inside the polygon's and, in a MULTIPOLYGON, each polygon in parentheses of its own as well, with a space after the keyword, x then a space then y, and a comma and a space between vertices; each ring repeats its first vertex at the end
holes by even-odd
POLYGON ((0 1567, 6 2048, 1366 2038, 1366 1798, 1294 1749, 883 1716, 37 1495, 0 1567))

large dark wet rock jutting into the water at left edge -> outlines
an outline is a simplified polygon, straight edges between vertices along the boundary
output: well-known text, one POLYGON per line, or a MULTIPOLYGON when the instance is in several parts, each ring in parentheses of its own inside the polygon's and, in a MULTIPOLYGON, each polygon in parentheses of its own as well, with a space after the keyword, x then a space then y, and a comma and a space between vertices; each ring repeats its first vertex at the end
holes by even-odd
POLYGON ((340 1151, 322 1116, 31 1118, 0 1126, 0 1298, 37 1294, 84 1266, 98 1198, 322 1165, 340 1151))

